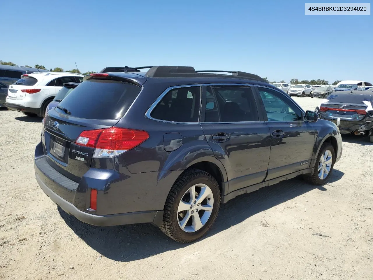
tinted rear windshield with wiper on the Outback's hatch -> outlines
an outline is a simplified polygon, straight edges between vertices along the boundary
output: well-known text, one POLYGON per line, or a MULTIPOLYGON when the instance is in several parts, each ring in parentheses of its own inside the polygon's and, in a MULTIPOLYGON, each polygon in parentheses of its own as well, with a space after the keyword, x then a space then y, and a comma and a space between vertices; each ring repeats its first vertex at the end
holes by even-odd
POLYGON ((137 85, 120 81, 86 80, 71 91, 60 106, 77 118, 119 119, 140 90, 137 85))

